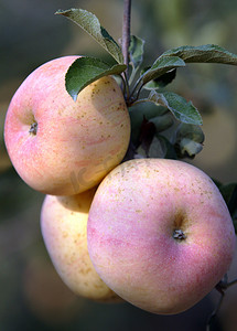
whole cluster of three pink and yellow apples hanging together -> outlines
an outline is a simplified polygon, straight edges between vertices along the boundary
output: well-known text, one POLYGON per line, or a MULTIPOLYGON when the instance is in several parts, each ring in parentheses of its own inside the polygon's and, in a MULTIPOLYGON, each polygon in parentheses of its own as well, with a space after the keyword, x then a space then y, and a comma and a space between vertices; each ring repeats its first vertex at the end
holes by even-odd
POLYGON ((111 76, 74 102, 50 61, 14 94, 4 140, 19 175, 44 193, 41 228, 64 282, 78 296, 179 313, 224 277, 236 237, 225 201, 200 169, 176 160, 122 162, 130 117, 111 76))

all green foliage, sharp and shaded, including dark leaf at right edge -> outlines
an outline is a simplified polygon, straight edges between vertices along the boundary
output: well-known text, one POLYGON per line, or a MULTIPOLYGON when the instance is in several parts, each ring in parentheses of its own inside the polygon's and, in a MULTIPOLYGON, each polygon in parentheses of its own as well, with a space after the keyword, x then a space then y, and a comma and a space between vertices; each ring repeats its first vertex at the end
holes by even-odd
MULTIPOLYGON (((95 14, 83 9, 58 10, 56 14, 64 15, 79 25, 112 57, 112 64, 99 58, 79 57, 68 68, 65 86, 76 102, 79 92, 94 81, 107 75, 119 77, 131 116, 130 158, 192 159, 202 150, 204 134, 201 128, 201 114, 192 102, 165 88, 176 77, 177 71, 186 64, 237 65, 237 55, 214 44, 185 45, 164 52, 152 65, 142 68, 144 41, 131 35, 130 63, 127 67, 121 46, 100 25, 95 14), (147 92, 148 95, 141 98, 141 92, 147 92), (143 106, 144 104, 149 104, 149 107, 143 106)), ((237 233, 237 183, 217 184, 237 233)))

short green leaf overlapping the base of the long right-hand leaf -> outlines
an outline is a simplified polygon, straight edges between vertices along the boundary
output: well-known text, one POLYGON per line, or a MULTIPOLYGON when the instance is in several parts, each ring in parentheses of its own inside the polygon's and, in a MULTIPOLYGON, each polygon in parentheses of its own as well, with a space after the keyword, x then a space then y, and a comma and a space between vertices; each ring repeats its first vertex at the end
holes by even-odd
POLYGON ((153 65, 142 75, 142 84, 147 84, 152 79, 164 75, 171 70, 185 66, 185 62, 179 56, 163 56, 159 57, 153 65))

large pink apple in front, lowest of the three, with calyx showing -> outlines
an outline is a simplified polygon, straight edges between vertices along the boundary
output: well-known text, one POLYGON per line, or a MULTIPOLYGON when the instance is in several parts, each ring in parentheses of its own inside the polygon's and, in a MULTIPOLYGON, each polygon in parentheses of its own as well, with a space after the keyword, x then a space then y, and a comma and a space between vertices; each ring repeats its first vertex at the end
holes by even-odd
POLYGON ((223 278, 236 237, 227 206, 204 172, 182 161, 137 159, 98 186, 87 243, 97 273, 122 299, 174 314, 223 278), (185 238, 174 238, 175 231, 185 238))

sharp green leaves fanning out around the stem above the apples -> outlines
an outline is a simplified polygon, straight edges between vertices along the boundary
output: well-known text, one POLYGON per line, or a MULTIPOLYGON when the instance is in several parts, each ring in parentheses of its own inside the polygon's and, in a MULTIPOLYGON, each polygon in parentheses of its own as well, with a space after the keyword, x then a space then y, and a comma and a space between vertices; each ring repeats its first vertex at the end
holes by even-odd
POLYGON ((78 93, 94 81, 107 76, 118 75, 123 83, 127 105, 138 103, 154 103, 166 107, 181 122, 202 125, 202 117, 191 102, 173 92, 163 92, 176 75, 176 70, 185 67, 187 63, 223 63, 237 65, 237 55, 218 45, 181 46, 161 54, 147 70, 140 70, 143 62, 144 41, 138 36, 130 36, 129 58, 130 77, 126 76, 127 66, 120 45, 108 31, 101 26, 97 17, 83 9, 58 10, 61 14, 72 20, 97 41, 114 58, 114 64, 107 64, 99 58, 78 58, 69 67, 66 75, 66 89, 76 100, 78 93), (140 71, 140 73, 139 73, 140 71), (136 78, 136 81, 134 81, 136 78), (142 89, 150 89, 144 98, 139 98, 142 89))

